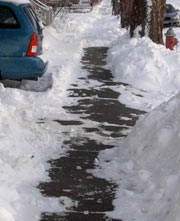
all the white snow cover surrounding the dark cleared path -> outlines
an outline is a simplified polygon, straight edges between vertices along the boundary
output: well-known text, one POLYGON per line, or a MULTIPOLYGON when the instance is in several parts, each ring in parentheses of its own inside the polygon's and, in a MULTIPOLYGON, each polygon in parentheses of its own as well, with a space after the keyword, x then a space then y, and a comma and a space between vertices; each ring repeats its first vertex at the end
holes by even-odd
MULTIPOLYGON (((178 0, 169 2, 180 9, 178 0)), ((179 28, 175 32, 180 39, 179 28)), ((129 39, 111 16, 110 0, 103 0, 90 13, 67 14, 45 28, 49 68, 42 78, 0 83, 0 221, 36 221, 41 212, 62 212, 73 205, 63 196, 43 197, 36 186, 49 180, 47 161, 66 152, 54 120, 69 118, 62 106, 70 84, 85 75, 80 59, 82 49, 90 46, 110 47, 107 67, 116 81, 129 84, 117 89, 119 100, 149 111, 123 143, 101 152, 93 171, 119 185, 110 216, 180 220, 179 49, 167 50, 148 38, 129 39)))

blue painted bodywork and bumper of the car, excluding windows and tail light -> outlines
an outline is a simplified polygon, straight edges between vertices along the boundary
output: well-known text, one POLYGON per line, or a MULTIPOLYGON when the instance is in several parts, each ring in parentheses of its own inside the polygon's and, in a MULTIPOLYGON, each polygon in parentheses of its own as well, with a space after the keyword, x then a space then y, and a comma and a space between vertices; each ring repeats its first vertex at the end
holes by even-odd
POLYGON ((8 7, 17 19, 18 28, 0 27, 0 73, 2 79, 37 79, 47 69, 47 62, 40 57, 26 56, 33 33, 38 35, 37 55, 42 53, 42 33, 35 28, 25 9, 30 4, 1 1, 0 7, 8 7))

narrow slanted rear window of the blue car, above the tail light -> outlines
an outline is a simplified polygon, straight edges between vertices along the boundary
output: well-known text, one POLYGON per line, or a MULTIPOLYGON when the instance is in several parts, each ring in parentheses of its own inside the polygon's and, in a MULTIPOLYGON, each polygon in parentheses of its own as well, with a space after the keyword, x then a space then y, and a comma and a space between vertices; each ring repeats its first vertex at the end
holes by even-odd
POLYGON ((38 31, 38 33, 41 33, 41 27, 39 25, 39 20, 34 12, 34 10, 32 9, 31 6, 26 6, 24 8, 24 11, 27 15, 27 17, 29 18, 31 24, 34 26, 34 28, 38 31))

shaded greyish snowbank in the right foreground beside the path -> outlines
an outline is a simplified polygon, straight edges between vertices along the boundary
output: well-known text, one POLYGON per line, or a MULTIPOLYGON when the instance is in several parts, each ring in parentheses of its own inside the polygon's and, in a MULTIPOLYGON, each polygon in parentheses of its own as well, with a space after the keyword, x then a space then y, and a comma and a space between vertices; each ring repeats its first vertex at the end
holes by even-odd
POLYGON ((96 175, 119 184, 114 218, 180 219, 180 94, 140 119, 124 141, 99 156, 96 175))

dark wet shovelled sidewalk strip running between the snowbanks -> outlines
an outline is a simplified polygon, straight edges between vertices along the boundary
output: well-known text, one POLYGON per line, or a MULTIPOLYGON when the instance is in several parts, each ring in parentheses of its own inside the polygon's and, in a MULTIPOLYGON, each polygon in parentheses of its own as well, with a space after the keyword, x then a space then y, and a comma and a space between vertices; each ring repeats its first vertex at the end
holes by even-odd
POLYGON ((82 64, 89 75, 72 85, 69 99, 75 100, 75 104, 64 107, 72 118, 76 117, 55 120, 60 126, 76 128, 77 132, 74 136, 63 132, 64 146, 69 151, 50 162, 51 181, 39 186, 46 196, 71 198, 74 207, 63 214, 44 213, 42 221, 114 220, 106 217, 105 212, 113 210, 116 185, 94 177, 89 170, 97 166, 99 151, 117 145, 142 112, 118 101, 119 93, 113 88, 117 89, 120 83, 114 83, 111 72, 104 68, 106 54, 104 47, 85 49, 82 64), (91 81, 97 82, 97 86, 91 81))

